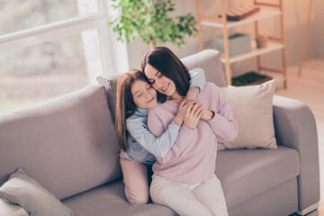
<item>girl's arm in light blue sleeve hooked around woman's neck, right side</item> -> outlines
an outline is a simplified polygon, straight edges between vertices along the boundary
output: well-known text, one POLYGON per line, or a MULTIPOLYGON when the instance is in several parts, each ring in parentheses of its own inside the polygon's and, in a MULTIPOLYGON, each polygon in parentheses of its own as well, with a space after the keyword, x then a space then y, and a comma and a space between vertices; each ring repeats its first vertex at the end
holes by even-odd
POLYGON ((197 100, 197 94, 202 91, 203 86, 206 84, 206 78, 204 76, 204 71, 201 68, 194 68, 189 71, 191 79, 190 79, 190 87, 186 94, 186 99, 188 101, 197 100))

